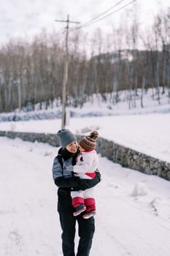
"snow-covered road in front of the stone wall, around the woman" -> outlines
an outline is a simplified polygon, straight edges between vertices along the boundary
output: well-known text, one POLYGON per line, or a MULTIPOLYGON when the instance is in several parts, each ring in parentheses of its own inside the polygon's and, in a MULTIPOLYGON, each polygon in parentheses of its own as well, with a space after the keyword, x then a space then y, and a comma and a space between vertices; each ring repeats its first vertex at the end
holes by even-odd
MULTIPOLYGON (((0 138, 0 255, 59 256, 58 148, 0 138)), ((170 182, 100 157, 91 256, 169 256, 170 182)))

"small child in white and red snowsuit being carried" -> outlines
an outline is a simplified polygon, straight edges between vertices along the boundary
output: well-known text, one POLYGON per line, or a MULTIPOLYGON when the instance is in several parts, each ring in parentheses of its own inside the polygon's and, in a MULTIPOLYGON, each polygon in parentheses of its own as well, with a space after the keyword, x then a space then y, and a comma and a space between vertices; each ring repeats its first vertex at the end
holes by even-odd
MULTIPOLYGON (((77 156, 77 164, 74 165, 74 176, 80 178, 94 178, 95 170, 98 168, 98 155, 96 153, 96 139, 98 132, 93 131, 89 136, 80 140, 80 154, 77 156)), ((72 191, 72 206, 75 208, 74 216, 81 214, 84 219, 89 219, 96 214, 95 199, 93 197, 93 188, 72 191)))

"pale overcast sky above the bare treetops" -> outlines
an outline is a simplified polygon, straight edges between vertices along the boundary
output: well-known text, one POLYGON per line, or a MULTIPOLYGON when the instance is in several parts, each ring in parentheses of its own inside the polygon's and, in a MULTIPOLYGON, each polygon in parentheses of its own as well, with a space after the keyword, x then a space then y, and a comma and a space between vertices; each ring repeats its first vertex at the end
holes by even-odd
MULTIPOLYGON (((123 5, 128 4, 132 0, 124 0, 117 7, 112 8, 105 15, 116 11, 123 5)), ((55 22, 55 19, 66 20, 67 15, 72 21, 78 21, 81 24, 93 19, 97 15, 108 10, 117 4, 118 0, 5 0, 0 4, 0 43, 7 42, 10 38, 31 38, 35 34, 39 34, 42 28, 51 31, 53 29, 61 29, 63 23, 55 22)), ((134 3, 125 7, 138 6, 138 14, 142 18, 143 23, 152 20, 152 16, 159 12, 163 7, 170 7, 169 0, 136 0, 134 3)), ((101 30, 107 31, 111 28, 111 24, 117 23, 122 17, 124 10, 120 10, 115 14, 101 20, 87 29, 95 29, 100 27, 101 30)), ((72 25, 74 26, 74 25, 72 25)))

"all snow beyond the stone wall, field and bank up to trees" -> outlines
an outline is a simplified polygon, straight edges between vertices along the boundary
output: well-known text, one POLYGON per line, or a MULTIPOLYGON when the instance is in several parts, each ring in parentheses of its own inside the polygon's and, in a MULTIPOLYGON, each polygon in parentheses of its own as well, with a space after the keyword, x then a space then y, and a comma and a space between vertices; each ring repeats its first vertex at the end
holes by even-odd
MULTIPOLYGON (((139 91, 136 108, 131 110, 128 109, 128 102, 125 102, 127 97, 125 91, 120 93, 120 102, 112 105, 112 109, 110 109, 109 97, 107 102, 102 102, 101 96, 96 95, 90 99, 90 102, 86 102, 83 108, 66 108, 67 111, 74 113, 66 128, 77 135, 87 135, 89 130, 97 129, 102 138, 170 162, 170 104, 168 91, 165 91, 165 94, 160 96, 161 105, 159 105, 156 95, 155 100, 152 100, 152 90, 148 89, 147 94, 144 95, 144 108, 140 106, 139 91), (87 130, 88 132, 84 132, 87 130)), ((42 120, 0 121, 0 130, 56 133, 61 129, 61 118, 48 119, 47 115, 51 116, 53 113, 52 116, 55 116, 55 113, 60 113, 60 109, 36 110, 31 114, 34 118, 35 116, 46 118, 42 120)), ((9 113, 6 117, 15 114, 9 113)), ((29 113, 19 114, 23 120, 28 118, 27 115, 29 113)), ((0 120, 3 116, 4 113, 1 113, 0 120)))

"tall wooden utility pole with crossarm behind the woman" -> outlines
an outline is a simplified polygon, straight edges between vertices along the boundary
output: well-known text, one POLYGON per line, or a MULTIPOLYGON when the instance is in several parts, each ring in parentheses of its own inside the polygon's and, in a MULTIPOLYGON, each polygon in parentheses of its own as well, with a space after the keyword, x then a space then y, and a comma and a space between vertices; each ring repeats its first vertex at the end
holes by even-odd
POLYGON ((68 39, 69 39, 69 23, 80 23, 77 21, 70 21, 69 15, 67 15, 67 20, 55 20, 58 22, 66 22, 66 42, 65 51, 63 59, 63 92, 62 92, 62 121, 61 129, 66 126, 66 88, 68 83, 68 67, 69 67, 69 50, 68 50, 68 39))

